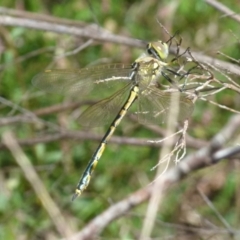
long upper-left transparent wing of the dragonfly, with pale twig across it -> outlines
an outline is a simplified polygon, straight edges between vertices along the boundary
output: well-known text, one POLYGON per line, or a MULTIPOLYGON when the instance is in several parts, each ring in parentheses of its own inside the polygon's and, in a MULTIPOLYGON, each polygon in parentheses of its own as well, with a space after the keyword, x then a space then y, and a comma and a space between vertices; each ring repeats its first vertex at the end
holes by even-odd
POLYGON ((108 88, 114 88, 119 82, 129 82, 131 71, 131 65, 126 64, 106 64, 80 70, 46 70, 36 75, 32 83, 46 92, 81 98, 95 90, 97 95, 103 93, 103 98, 108 88))

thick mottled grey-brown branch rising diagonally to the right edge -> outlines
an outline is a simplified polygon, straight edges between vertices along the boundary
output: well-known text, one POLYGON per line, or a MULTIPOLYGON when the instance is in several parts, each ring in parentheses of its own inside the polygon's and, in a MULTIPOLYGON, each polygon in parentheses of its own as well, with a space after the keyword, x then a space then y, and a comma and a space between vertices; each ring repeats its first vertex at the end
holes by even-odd
MULTIPOLYGON (((187 177, 190 173, 200 170, 210 165, 215 164, 214 156, 218 152, 221 152, 225 144, 234 137, 235 130, 240 128, 240 115, 232 117, 226 126, 211 140, 210 144, 196 153, 188 155, 178 165, 169 169, 165 174, 161 175, 159 181, 162 194, 168 189, 173 183, 179 182, 181 179, 187 177)), ((235 147, 235 151, 228 157, 232 157, 240 153, 240 147, 235 147)), ((224 157, 222 155, 222 157, 224 157)), ((96 237, 104 230, 110 222, 115 219, 124 216, 132 208, 139 204, 147 201, 154 189, 154 185, 149 185, 137 192, 131 194, 126 199, 112 205, 109 209, 98 215, 95 219, 91 220, 79 233, 77 233, 71 240, 76 239, 96 239, 96 237)), ((226 231, 228 233, 228 231, 226 231)), ((234 231, 234 234, 239 232, 234 231)))

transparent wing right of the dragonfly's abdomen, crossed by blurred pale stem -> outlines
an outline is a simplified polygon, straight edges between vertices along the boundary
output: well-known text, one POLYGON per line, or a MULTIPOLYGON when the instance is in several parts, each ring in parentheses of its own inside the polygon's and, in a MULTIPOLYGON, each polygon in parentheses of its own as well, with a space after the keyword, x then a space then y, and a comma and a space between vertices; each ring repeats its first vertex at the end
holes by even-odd
POLYGON ((174 106, 178 108, 176 122, 187 119, 193 111, 193 103, 184 93, 163 92, 155 87, 148 87, 139 94, 137 116, 143 124, 164 124, 171 112, 171 99, 178 99, 174 106), (178 96, 177 96, 178 95, 178 96))

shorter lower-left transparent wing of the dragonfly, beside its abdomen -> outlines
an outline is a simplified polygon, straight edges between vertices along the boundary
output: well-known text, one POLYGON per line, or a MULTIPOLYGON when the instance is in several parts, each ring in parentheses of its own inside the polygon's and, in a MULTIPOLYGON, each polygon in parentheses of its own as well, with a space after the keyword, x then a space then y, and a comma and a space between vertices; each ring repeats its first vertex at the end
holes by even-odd
POLYGON ((124 106, 129 93, 131 83, 124 88, 88 107, 79 117, 79 123, 85 127, 97 127, 110 124, 124 106))

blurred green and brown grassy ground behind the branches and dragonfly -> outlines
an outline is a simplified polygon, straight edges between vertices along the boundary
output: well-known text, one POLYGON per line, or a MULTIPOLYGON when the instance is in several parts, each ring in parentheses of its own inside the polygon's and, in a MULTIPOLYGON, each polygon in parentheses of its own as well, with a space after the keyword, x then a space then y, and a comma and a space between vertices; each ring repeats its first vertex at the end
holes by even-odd
MULTIPOLYGON (((236 1, 222 2, 239 12, 240 4, 236 1)), ((222 13, 205 1, 102 0, 91 1, 90 7, 86 1, 81 0, 2 0, 0 7, 85 24, 98 23, 112 33, 144 41, 166 41, 169 36, 160 28, 158 20, 171 34, 180 32, 183 48, 191 47, 194 51, 214 57, 217 51, 221 51, 235 59, 240 58, 239 23, 222 17, 222 13)), ((61 101, 69 101, 68 98, 49 95, 33 88, 33 76, 49 66, 81 68, 102 62, 132 63, 142 52, 139 48, 95 41, 77 54, 54 59, 87 40, 24 27, 0 26, 0 96, 12 103, 7 105, 1 99, 0 117, 12 117, 23 114, 23 109, 36 111, 61 101), (39 54, 29 56, 36 50, 40 51, 39 54)), ((239 108, 239 97, 231 92, 223 92, 213 99, 234 109, 239 108)), ((77 109, 46 115, 42 119, 67 129, 79 130, 81 127, 74 121, 74 114, 78 114, 77 109)), ((230 116, 229 112, 216 106, 197 102, 188 133, 196 139, 208 141, 230 116)), ((52 133, 50 128, 42 124, 18 122, 1 126, 1 135, 9 129, 19 139, 32 139, 43 133, 52 133)), ((106 127, 90 131, 103 135, 106 127)), ((161 137, 127 118, 120 124, 115 136, 148 139, 161 137)), ((43 184, 75 232, 80 231, 110 204, 146 186, 155 176, 155 171, 150 170, 158 162, 158 148, 109 144, 87 191, 71 202, 76 183, 97 144, 98 141, 93 140, 66 139, 23 147, 43 184)), ((195 150, 187 149, 189 153, 195 150)), ((239 228, 238 170, 239 163, 222 162, 196 172, 172 187, 158 211, 152 237, 182 239, 175 226, 164 226, 162 222, 188 225, 194 214, 201 221, 210 221, 215 226, 224 227, 197 193, 199 187, 205 190, 205 194, 230 226, 239 228)), ((60 238, 31 185, 6 148, 0 150, 0 188, 0 239, 60 238)), ((124 218, 111 223, 101 234, 101 239, 136 239, 143 224, 146 206, 143 204, 131 210, 124 218)), ((194 225, 194 221, 191 224, 194 225)))

